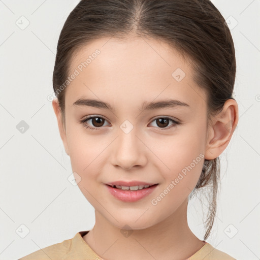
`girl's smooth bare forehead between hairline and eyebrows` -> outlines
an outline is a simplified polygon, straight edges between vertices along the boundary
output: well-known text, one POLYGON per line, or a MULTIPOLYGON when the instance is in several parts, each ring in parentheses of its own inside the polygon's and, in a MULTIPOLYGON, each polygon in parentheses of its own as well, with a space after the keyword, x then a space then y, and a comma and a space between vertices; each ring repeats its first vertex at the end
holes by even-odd
MULTIPOLYGON (((66 96, 70 104, 90 94, 92 98, 152 101, 179 99, 186 103, 205 101, 205 95, 193 81, 189 61, 167 43, 146 38, 95 40, 75 53, 70 75, 79 75, 70 83, 66 96), (99 54, 96 54, 99 53, 99 54), (203 100, 204 99, 204 100, 203 100)), ((109 101, 108 101, 109 102, 109 101)))

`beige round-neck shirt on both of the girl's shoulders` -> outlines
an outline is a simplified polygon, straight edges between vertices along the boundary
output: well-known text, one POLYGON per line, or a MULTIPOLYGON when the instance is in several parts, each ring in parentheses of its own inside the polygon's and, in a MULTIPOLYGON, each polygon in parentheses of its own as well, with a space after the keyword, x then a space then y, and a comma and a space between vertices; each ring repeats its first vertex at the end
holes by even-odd
MULTIPOLYGON (((80 231, 72 239, 47 246, 18 260, 104 260, 83 239, 83 236, 88 232, 80 231)), ((215 249, 208 242, 204 242, 204 246, 199 251, 185 260, 236 260, 230 255, 215 249)))

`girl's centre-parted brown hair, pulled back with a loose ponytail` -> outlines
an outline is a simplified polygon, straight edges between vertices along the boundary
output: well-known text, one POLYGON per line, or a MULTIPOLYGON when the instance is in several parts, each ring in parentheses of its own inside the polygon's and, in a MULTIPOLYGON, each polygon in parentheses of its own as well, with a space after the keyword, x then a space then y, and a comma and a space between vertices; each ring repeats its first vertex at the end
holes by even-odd
MULTIPOLYGON (((232 35, 209 0, 82 0, 64 23, 57 45, 53 89, 63 122, 66 88, 58 90, 68 78, 76 51, 103 37, 123 39, 133 35, 164 41, 190 60, 194 81, 207 95, 208 124, 226 100, 234 99, 236 58, 232 35)), ((215 218, 219 174, 219 157, 205 159, 200 179, 189 196, 212 186, 204 240, 215 218)))

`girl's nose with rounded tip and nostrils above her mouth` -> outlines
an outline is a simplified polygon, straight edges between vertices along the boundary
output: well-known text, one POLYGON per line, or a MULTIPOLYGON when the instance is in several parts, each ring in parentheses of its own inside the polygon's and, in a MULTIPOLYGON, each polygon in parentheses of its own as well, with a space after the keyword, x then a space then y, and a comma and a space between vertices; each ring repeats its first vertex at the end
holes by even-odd
POLYGON ((112 151, 112 164, 124 170, 133 167, 144 167, 147 163, 147 147, 140 137, 137 136, 135 128, 130 133, 124 133, 119 129, 112 151))

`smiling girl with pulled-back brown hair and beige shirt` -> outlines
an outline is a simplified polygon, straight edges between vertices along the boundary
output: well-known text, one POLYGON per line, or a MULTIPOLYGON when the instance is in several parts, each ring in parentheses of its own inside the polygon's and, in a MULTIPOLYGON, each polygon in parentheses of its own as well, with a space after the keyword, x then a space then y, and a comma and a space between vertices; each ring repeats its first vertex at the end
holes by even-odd
POLYGON ((209 0, 82 0, 57 45, 53 109, 95 225, 29 259, 235 259, 206 242, 238 123, 234 44, 209 0), (204 240, 188 200, 211 185, 204 240))

